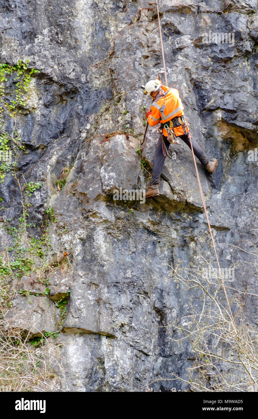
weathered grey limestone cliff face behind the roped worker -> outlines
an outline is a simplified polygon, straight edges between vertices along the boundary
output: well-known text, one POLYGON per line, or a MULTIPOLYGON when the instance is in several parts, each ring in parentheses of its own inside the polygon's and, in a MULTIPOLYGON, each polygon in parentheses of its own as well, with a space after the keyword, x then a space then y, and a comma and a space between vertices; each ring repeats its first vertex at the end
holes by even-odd
MULTIPOLYGON (((120 187, 148 188, 158 137, 149 127, 143 142, 150 102, 140 86, 163 69, 155 7, 145 0, 2 3, 1 62, 28 59, 40 70, 17 119, 25 145, 18 179, 42 184, 30 197, 28 237, 41 237, 52 208, 44 264, 70 255, 65 269, 45 270, 47 296, 39 277, 16 283, 30 295, 15 297, 9 321, 36 336, 60 329, 65 378, 56 373, 66 391, 140 392, 150 383, 154 391, 188 391, 182 380, 195 354, 176 325, 191 303, 202 310, 202 295, 183 287, 173 269, 201 256, 216 266, 191 150, 182 141, 170 146, 159 197, 113 199, 120 187), (57 305, 67 295, 60 328, 57 305), (175 375, 182 380, 171 382, 175 375)), ((160 0, 159 9, 168 84, 180 92, 192 137, 219 160, 210 176, 196 159, 220 264, 236 266, 234 289, 255 290, 258 172, 249 151, 255 156, 258 147, 257 2, 160 0), (203 41, 209 30, 234 33, 234 44, 203 41)), ((18 228, 22 210, 11 173, 0 189, 2 251, 13 240, 6 222, 18 228)), ((257 303, 245 294, 243 304, 257 325, 257 303)))

